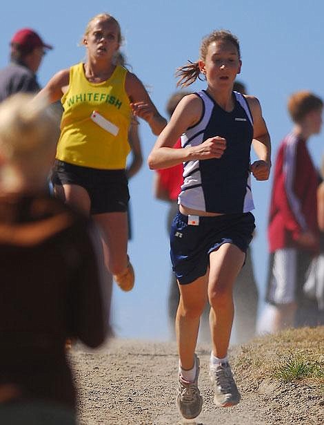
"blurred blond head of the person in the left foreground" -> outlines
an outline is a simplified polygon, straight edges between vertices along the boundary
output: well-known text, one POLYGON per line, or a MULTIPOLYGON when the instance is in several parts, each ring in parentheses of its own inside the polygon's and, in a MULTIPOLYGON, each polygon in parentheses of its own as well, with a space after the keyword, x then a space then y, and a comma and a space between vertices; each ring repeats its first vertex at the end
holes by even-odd
POLYGON ((59 125, 45 99, 17 93, 0 104, 2 192, 45 188, 55 158, 59 125))

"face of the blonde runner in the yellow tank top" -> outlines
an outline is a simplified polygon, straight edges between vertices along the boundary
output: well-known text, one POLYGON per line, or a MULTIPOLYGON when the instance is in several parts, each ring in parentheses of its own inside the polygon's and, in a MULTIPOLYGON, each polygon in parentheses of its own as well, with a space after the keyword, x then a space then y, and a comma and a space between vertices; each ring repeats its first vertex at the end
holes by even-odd
POLYGON ((119 49, 119 27, 111 20, 95 21, 84 39, 90 56, 111 59, 119 49))

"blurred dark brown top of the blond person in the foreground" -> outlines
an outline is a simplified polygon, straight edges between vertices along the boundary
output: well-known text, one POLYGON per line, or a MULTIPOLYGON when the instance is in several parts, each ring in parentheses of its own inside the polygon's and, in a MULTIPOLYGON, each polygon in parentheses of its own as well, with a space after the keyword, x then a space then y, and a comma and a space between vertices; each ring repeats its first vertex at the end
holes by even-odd
POLYGON ((105 339, 92 226, 48 196, 0 196, 0 388, 16 385, 21 399, 75 408, 65 339, 105 339))

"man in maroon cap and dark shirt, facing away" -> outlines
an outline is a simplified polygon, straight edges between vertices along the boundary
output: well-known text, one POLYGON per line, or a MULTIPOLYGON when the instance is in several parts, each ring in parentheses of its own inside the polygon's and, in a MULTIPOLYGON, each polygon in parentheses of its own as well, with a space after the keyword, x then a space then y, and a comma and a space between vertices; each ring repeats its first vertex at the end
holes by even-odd
POLYGON ((40 89, 36 73, 46 50, 52 49, 30 28, 17 31, 10 41, 10 64, 0 70, 0 102, 17 93, 40 89))

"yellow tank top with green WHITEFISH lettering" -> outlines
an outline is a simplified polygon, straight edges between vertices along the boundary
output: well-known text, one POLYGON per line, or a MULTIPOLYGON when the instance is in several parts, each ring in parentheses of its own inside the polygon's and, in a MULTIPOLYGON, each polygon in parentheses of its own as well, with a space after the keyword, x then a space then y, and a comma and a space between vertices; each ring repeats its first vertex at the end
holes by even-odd
POLYGON ((125 92, 127 72, 122 66, 116 66, 109 79, 93 84, 85 78, 82 63, 70 68, 69 89, 61 99, 64 112, 57 145, 58 160, 82 167, 125 169, 132 117, 125 92), (117 126, 117 135, 93 122, 93 111, 117 126))

